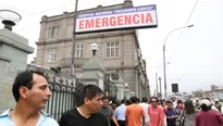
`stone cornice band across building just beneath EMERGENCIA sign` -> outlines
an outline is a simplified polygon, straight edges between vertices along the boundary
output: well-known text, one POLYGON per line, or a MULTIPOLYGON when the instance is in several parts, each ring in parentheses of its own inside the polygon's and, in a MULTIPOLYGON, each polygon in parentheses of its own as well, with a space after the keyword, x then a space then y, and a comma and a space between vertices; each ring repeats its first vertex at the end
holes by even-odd
MULTIPOLYGON (((77 35, 76 40, 88 40, 88 39, 97 39, 97 38, 110 38, 110 37, 117 37, 123 35, 132 35, 134 30, 126 30, 126 32, 116 32, 116 33, 107 33, 107 34, 90 34, 90 35, 77 35)), ((37 46, 40 45, 53 45, 53 43, 61 43, 61 42, 70 42, 72 38, 58 38, 58 39, 48 39, 48 40, 40 40, 36 41, 37 46)))

